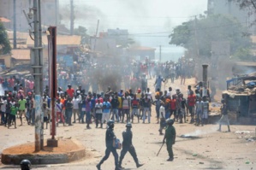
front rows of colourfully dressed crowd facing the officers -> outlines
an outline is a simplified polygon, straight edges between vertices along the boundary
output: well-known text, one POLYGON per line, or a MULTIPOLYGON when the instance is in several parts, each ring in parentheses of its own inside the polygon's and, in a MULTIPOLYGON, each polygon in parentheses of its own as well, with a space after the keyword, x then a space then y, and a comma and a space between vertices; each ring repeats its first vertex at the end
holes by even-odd
MULTIPOLYGON (((145 75, 145 74, 144 74, 145 75)), ((13 79, 13 78, 10 78, 13 79)), ((144 77, 146 80, 146 77, 144 77)), ((160 123, 159 132, 162 134, 164 121, 173 116, 173 119, 182 123, 187 121, 186 116, 191 117, 191 122, 204 125, 207 122, 209 102, 207 97, 202 96, 201 89, 196 89, 195 94, 188 86, 188 98, 185 98, 182 91, 176 89, 172 91, 161 91, 162 82, 165 79, 160 75, 155 81, 155 91, 151 91, 143 83, 133 91, 112 91, 108 90, 101 93, 86 91, 82 85, 74 89, 68 85, 67 90, 58 87, 57 91, 57 126, 59 123, 64 126, 72 126, 74 123, 85 123, 86 128, 91 128, 92 122, 96 128, 103 128, 103 124, 108 120, 116 122, 152 122, 152 105, 155 106, 157 113, 156 119, 160 123)), ((199 87, 200 88, 200 87, 199 87)), ((9 88, 8 88, 9 89, 9 88)), ((15 124, 15 117, 21 120, 25 115, 28 125, 34 125, 35 103, 33 91, 24 91, 19 79, 14 79, 13 91, 6 90, 1 97, 1 123, 5 126, 15 124), (13 116, 16 115, 17 116, 13 116)), ((42 111, 46 128, 51 120, 51 97, 48 96, 49 87, 45 86, 42 111)), ((16 128, 16 124, 15 124, 16 128)))

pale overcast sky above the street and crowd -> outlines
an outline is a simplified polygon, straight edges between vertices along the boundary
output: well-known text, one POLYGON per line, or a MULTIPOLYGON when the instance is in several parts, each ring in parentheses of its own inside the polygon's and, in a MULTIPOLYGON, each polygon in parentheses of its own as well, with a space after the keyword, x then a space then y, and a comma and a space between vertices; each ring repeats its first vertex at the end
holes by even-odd
MULTIPOLYGON (((70 0, 59 0, 60 13, 68 26, 70 0)), ((206 0, 74 0, 75 26, 89 34, 107 29, 128 29, 141 45, 168 45, 173 27, 207 10, 206 0)))

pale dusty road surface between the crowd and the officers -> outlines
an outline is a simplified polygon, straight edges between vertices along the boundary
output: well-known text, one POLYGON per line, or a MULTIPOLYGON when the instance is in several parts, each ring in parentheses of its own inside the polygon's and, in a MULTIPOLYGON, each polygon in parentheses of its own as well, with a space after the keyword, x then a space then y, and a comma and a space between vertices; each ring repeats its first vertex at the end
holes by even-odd
MULTIPOLYGON (((150 81, 150 85, 152 83, 150 81)), ((171 85, 174 90, 181 88, 183 93, 186 94, 185 90, 189 84, 193 84, 193 79, 189 79, 186 85, 179 85, 179 83, 179 81, 175 85, 168 83, 166 89, 171 85)), ((227 127, 223 126, 223 132, 217 132, 218 126, 213 124, 193 126, 188 123, 175 123, 177 133, 176 144, 173 146, 175 160, 170 162, 165 161, 168 158, 165 145, 160 154, 156 156, 164 137, 158 134, 159 124, 156 123, 155 112, 152 115, 151 124, 134 123, 132 129, 134 132, 134 147, 140 162, 145 163, 140 169, 256 169, 256 143, 253 140, 256 139, 255 126, 231 126, 231 132, 225 132, 227 127), (193 138, 180 138, 183 134, 193 136, 193 138)), ((117 138, 122 139, 124 129, 125 124, 115 125, 117 138)), ((96 129, 94 125, 90 130, 86 130, 84 124, 58 126, 57 137, 77 139, 86 146, 88 156, 85 160, 65 165, 34 165, 33 169, 96 169, 95 166, 101 159, 101 155, 104 155, 104 134, 105 129, 96 129)), ((51 138, 49 130, 45 130, 46 138, 51 138)), ((33 126, 18 126, 17 129, 7 129, 0 126, 0 152, 10 146, 33 142, 33 140, 33 126)), ((120 150, 118 150, 118 153, 120 154, 120 150)), ((129 154, 125 156, 122 166, 126 169, 136 169, 133 158, 129 154)), ((18 169, 18 167, 0 164, 0 169, 18 169)), ((114 169, 112 155, 104 162, 102 169, 114 169)))

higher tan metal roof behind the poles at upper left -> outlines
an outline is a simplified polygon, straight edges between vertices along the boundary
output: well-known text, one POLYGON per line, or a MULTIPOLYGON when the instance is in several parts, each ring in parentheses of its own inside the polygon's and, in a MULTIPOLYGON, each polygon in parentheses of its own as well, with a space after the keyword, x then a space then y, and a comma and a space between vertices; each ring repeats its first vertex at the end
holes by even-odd
MULTIPOLYGON (((46 36, 42 37, 42 43, 48 44, 48 40, 46 36)), ((27 37, 27 45, 33 45, 34 42, 31 38, 27 37)), ((80 45, 80 36, 73 35, 57 35, 57 45, 80 45)))

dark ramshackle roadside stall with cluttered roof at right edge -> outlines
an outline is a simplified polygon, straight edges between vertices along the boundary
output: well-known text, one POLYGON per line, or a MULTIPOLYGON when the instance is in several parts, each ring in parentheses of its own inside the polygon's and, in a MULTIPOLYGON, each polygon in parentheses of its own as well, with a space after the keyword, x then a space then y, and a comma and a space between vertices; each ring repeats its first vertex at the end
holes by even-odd
POLYGON ((229 119, 240 124, 256 123, 256 73, 227 80, 222 94, 227 103, 229 119))

